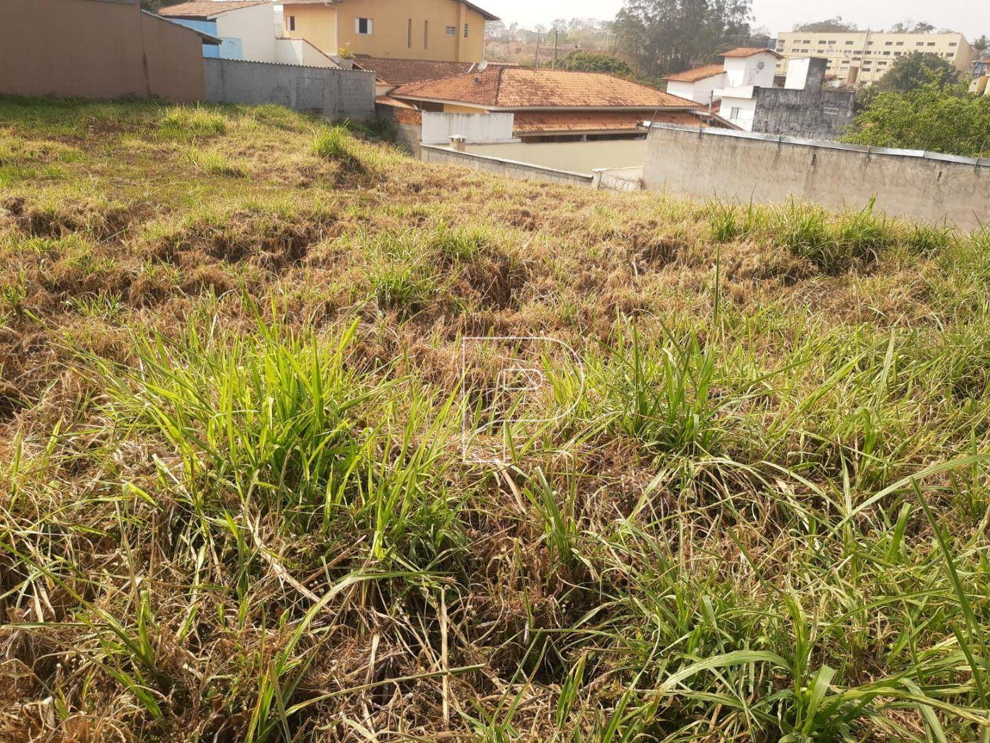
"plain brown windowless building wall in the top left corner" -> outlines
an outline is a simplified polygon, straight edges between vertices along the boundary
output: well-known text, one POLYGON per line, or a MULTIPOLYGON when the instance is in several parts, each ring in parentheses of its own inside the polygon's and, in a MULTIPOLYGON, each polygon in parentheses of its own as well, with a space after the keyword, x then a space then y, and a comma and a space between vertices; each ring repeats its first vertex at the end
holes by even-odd
POLYGON ((219 44, 139 0, 2 0, 0 29, 0 93, 19 95, 201 101, 219 44))

